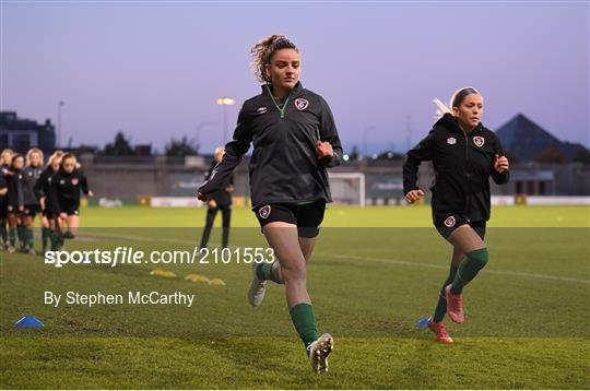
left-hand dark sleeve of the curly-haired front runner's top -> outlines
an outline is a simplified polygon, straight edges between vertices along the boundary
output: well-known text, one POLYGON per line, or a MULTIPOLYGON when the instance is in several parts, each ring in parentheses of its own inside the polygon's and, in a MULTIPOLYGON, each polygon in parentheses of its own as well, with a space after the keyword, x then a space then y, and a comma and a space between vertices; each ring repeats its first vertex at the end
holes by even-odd
POLYGON ((251 129, 249 127, 247 116, 241 107, 238 115, 238 121, 236 130, 234 131, 234 140, 225 145, 225 154, 223 159, 213 168, 208 180, 199 187, 199 192, 202 194, 210 194, 220 190, 224 183, 227 182, 228 177, 237 167, 241 157, 250 149, 250 142, 252 141, 251 129))

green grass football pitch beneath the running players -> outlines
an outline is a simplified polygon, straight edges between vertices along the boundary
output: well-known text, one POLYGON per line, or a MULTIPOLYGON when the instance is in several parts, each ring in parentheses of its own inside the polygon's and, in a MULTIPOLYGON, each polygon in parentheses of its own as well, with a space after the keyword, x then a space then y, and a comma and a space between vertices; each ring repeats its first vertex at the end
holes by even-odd
MULTIPOLYGON (((432 313, 450 247, 427 206, 330 208, 308 287, 335 349, 310 372, 283 287, 246 301, 249 265, 66 265, 0 257, 0 388, 587 389, 590 386, 590 223, 586 206, 494 208, 491 262, 465 288, 467 321, 447 321, 453 345, 415 321, 432 313), (162 268, 175 279, 150 275, 162 268), (184 280, 189 273, 225 286, 184 280), (191 308, 43 304, 52 291, 191 292, 191 308), (24 315, 42 330, 13 327, 24 315)), ((233 213, 231 244, 263 247, 253 214, 233 213)), ((190 249, 200 209, 84 209, 68 250, 133 246, 190 249), (128 227, 128 228, 126 228, 128 227)), ((212 247, 220 240, 212 234, 212 247)))

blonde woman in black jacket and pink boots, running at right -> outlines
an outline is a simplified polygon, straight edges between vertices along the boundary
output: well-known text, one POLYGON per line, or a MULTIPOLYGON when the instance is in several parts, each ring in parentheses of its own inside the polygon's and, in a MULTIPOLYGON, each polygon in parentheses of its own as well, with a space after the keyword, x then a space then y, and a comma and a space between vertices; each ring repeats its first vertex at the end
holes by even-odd
POLYGON ((475 88, 457 91, 450 109, 438 99, 435 103, 440 118, 428 135, 408 152, 403 188, 409 203, 424 197, 416 186, 417 169, 421 162, 433 162, 433 220, 436 229, 452 245, 452 258, 428 328, 438 342, 452 343, 442 323, 445 313, 456 323, 463 322, 463 287, 487 263, 484 236, 489 220, 489 177, 504 185, 509 173, 498 138, 481 122, 483 97, 475 88))

